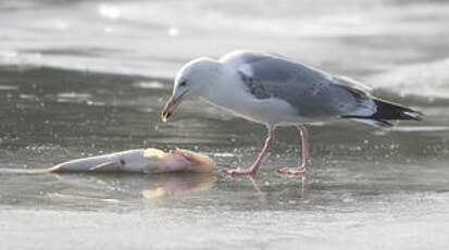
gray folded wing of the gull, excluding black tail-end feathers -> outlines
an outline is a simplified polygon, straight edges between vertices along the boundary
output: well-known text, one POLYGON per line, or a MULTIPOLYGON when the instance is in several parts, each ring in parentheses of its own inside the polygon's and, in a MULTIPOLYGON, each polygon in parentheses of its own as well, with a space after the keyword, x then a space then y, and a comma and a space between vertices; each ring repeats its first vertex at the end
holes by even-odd
POLYGON ((375 112, 369 95, 345 78, 267 54, 239 57, 237 71, 247 90, 258 99, 283 99, 304 117, 375 112))

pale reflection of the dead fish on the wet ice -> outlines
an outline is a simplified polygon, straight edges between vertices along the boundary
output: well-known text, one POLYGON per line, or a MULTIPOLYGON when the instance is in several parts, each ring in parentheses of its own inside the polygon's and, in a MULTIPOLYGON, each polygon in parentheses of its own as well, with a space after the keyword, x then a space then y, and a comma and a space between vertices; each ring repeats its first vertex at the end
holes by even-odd
MULTIPOLYGON (((210 189, 215 177, 204 174, 159 174, 141 176, 135 174, 59 175, 59 182, 72 188, 49 190, 48 197, 60 202, 110 202, 126 200, 160 199, 188 195, 210 189), (96 200, 97 199, 97 200, 96 200)), ((82 204, 82 203, 80 203, 82 204)), ((88 203, 86 203, 87 205, 88 203)))

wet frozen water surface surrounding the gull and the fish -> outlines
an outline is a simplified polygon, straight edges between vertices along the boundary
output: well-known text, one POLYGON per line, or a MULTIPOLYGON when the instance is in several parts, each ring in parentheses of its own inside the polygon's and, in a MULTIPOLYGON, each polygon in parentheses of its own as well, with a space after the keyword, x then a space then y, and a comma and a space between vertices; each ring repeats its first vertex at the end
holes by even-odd
POLYGON ((445 1, 1 1, 0 242, 3 249, 447 249, 449 59, 445 1), (33 20, 34 22, 30 22, 33 20), (423 111, 389 132, 311 126, 255 180, 264 128, 187 100, 159 122, 186 61, 254 49, 373 87, 423 111), (208 153, 203 175, 13 175, 132 148, 208 153))

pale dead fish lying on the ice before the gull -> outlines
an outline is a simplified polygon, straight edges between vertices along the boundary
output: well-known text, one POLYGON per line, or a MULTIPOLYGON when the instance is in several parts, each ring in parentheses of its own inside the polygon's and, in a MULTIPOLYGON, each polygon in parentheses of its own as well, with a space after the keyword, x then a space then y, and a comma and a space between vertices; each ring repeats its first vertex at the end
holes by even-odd
POLYGON ((164 152, 149 148, 72 160, 45 170, 10 170, 9 173, 125 172, 159 174, 173 172, 210 173, 214 168, 214 161, 201 153, 184 149, 164 152))

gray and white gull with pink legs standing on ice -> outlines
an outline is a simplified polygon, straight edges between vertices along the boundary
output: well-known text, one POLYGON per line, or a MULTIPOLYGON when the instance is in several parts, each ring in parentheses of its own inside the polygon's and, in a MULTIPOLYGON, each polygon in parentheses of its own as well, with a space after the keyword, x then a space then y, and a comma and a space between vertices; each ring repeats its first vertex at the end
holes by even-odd
POLYGON ((187 97, 200 97, 266 126, 265 143, 253 164, 227 171, 232 176, 258 174, 275 141, 277 126, 296 126, 302 146, 301 164, 279 168, 278 173, 302 175, 311 164, 305 124, 342 118, 391 127, 389 121, 422 120, 421 112, 376 98, 357 80, 255 51, 235 51, 219 60, 199 58, 185 64, 175 77, 161 120, 166 122, 187 97))

